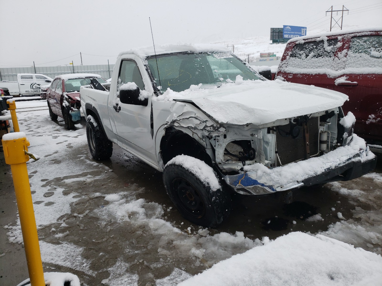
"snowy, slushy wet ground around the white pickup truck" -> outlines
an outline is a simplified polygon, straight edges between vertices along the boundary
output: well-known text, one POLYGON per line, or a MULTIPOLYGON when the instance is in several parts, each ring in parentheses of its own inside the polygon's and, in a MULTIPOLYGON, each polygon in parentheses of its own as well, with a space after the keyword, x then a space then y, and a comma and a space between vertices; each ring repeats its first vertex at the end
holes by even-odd
MULTIPOLYGON (((272 200, 239 199, 227 223, 208 230, 179 215, 160 173, 118 147, 112 161, 95 162, 82 124, 65 130, 44 101, 16 106, 29 151, 41 158, 28 171, 45 271, 111 286, 382 281, 379 173, 297 192, 301 204, 318 206, 302 215, 272 200), (284 221, 281 230, 272 226, 284 221)), ((19 222, 5 228, 11 243, 22 243, 19 222)))

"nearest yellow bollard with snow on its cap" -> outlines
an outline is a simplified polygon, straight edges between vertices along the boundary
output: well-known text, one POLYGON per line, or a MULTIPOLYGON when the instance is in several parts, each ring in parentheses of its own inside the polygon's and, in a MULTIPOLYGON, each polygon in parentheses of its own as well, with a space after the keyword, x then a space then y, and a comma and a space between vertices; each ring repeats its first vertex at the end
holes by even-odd
MULTIPOLYGON (((13 126, 15 127, 15 125, 13 126)), ((26 154, 29 142, 26 140, 24 132, 15 132, 3 135, 2 143, 5 163, 11 165, 31 286, 45 286, 32 194, 26 168, 26 162, 29 160, 29 156, 26 154)))

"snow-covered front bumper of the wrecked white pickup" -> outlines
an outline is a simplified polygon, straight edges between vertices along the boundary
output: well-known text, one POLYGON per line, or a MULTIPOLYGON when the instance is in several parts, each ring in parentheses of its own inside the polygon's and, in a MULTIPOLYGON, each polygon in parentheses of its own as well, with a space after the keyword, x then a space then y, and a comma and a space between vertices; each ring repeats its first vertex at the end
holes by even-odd
MULTIPOLYGON (((358 152, 354 152, 354 147, 359 147, 360 140, 363 141, 356 137, 357 143, 353 146, 339 147, 320 157, 273 169, 265 169, 266 167, 261 165, 258 170, 227 175, 224 179, 236 193, 248 195, 270 194, 303 186, 352 180, 374 170, 377 163, 377 157, 365 143, 364 149, 359 148, 358 152)), ((254 169, 254 165, 248 167, 254 169)))

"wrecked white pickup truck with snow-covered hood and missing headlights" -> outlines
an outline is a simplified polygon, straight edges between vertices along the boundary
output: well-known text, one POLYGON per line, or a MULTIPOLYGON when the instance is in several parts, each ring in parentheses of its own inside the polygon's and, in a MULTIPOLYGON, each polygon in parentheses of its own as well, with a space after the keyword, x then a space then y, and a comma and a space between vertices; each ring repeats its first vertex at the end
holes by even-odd
POLYGON ((223 47, 127 51, 102 86, 80 90, 92 156, 110 158, 115 143, 163 172, 183 217, 205 227, 228 215, 230 192, 351 180, 376 165, 342 112, 346 95, 266 80, 223 47))

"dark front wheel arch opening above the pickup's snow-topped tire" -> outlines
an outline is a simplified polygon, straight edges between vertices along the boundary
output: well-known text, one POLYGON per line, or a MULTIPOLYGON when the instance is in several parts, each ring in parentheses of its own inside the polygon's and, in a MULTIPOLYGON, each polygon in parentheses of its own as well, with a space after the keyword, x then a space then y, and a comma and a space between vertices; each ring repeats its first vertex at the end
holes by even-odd
POLYGON ((173 157, 183 154, 200 159, 210 167, 213 166, 212 159, 204 146, 190 135, 173 127, 167 127, 160 141, 160 154, 164 165, 173 157))

